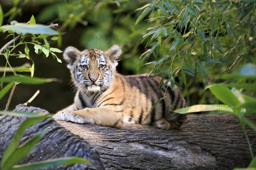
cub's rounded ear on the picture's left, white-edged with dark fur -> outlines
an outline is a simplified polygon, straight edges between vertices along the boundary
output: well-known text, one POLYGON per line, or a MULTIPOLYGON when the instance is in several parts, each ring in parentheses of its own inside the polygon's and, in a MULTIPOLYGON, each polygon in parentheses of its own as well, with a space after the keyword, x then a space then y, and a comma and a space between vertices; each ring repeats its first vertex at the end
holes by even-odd
POLYGON ((80 55, 80 51, 76 49, 73 46, 69 46, 65 49, 63 53, 63 58, 68 63, 68 68, 73 65, 73 63, 76 61, 76 58, 80 55))

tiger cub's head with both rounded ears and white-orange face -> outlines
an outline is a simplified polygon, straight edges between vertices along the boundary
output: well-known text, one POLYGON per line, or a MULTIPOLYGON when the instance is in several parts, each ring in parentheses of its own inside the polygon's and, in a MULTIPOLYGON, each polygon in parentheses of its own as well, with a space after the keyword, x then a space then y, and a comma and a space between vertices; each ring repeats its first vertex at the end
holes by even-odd
POLYGON ((112 84, 117 59, 121 53, 118 45, 111 46, 106 52, 101 49, 79 51, 69 46, 65 49, 63 57, 78 89, 85 92, 102 92, 112 84))

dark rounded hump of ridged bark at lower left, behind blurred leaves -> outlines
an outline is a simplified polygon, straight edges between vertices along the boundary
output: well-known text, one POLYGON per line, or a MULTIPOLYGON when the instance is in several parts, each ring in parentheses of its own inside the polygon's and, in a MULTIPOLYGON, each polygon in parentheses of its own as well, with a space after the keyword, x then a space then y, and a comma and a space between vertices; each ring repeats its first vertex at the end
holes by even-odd
MULTIPOLYGON (((44 109, 36 107, 23 107, 18 105, 15 111, 47 112, 44 109)), ((26 117, 16 117, 9 115, 0 116, 0 160, 3 157, 4 150, 10 144, 22 144, 38 132, 47 129, 46 134, 32 151, 24 158, 20 164, 42 161, 49 158, 61 158, 76 156, 90 160, 93 166, 88 164, 61 165, 49 168, 49 170, 101 170, 104 169, 97 151, 84 139, 70 133, 70 131, 61 127, 52 118, 47 118, 32 127, 29 127, 23 134, 20 141, 12 140, 12 136, 26 117)), ((39 139, 38 139, 39 140, 39 139)))

